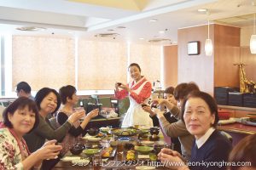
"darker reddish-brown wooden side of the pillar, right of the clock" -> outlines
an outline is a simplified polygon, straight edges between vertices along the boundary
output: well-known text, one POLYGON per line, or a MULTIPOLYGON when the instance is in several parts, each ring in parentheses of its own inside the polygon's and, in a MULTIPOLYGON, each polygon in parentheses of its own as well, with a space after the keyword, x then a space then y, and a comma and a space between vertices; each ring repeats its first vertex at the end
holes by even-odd
POLYGON ((239 87, 240 28, 214 25, 214 86, 239 87))

